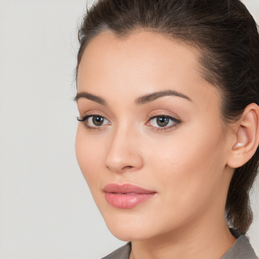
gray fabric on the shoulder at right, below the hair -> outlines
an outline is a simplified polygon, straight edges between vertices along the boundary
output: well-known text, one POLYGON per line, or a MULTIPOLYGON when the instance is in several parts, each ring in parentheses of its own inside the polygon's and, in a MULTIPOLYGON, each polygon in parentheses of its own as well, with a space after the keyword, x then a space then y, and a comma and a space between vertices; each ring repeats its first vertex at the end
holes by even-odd
POLYGON ((236 243, 221 257, 221 259, 258 259, 245 235, 241 235, 236 243))

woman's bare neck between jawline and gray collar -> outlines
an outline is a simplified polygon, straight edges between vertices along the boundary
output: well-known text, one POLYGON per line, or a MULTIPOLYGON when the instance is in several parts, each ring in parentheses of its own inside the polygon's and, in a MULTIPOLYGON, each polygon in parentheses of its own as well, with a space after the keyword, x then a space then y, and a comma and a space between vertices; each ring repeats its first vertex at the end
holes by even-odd
POLYGON ((130 259, 219 259, 235 241, 225 219, 220 225, 187 225, 185 229, 132 241, 130 259))

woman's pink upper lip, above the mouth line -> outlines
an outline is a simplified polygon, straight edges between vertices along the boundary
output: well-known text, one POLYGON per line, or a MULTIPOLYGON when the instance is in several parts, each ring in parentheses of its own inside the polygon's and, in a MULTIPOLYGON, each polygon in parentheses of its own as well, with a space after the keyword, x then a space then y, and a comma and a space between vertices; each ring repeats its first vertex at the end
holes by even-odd
POLYGON ((110 192, 110 193, 134 193, 134 194, 156 193, 155 191, 147 190, 132 184, 123 184, 123 185, 107 184, 103 188, 103 191, 110 192))

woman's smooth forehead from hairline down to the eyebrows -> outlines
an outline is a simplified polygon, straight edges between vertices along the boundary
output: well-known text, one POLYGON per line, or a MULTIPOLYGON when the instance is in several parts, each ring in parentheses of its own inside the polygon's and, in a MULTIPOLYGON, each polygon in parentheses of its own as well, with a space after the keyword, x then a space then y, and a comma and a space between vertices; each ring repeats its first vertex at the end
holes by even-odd
POLYGON ((78 92, 123 96, 131 91, 136 92, 135 99, 170 89, 197 101, 208 92, 219 97, 217 89, 201 76, 198 57, 195 48, 158 33, 138 31, 119 38, 102 32, 84 50, 78 66, 78 92))

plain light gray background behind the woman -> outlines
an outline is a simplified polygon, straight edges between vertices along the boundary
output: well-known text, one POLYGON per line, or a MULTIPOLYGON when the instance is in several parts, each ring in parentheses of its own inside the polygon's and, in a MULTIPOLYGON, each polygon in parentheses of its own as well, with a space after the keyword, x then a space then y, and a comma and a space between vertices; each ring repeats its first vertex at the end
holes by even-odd
MULTIPOLYGON (((258 0, 244 3, 258 22, 258 0)), ((123 244, 107 230, 74 154, 73 70, 85 6, 0 0, 1 259, 97 259, 123 244)), ((249 231, 257 254, 258 193, 257 182, 249 231)))

